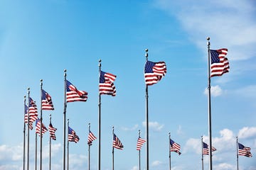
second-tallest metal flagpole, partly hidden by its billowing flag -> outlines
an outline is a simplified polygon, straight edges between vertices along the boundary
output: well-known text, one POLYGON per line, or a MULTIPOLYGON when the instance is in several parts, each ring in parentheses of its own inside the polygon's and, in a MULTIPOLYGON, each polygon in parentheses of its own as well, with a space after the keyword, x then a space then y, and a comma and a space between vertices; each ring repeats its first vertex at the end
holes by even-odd
MULTIPOLYGON (((146 62, 148 60, 148 49, 145 50, 146 62)), ((149 170, 149 94, 148 85, 146 85, 146 170, 149 170)))

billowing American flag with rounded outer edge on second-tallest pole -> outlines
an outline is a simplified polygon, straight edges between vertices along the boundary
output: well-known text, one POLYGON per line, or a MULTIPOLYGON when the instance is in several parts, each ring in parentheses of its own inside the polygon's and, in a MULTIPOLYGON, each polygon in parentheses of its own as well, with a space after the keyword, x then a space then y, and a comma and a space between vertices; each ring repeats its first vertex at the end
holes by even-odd
POLYGON ((165 62, 149 62, 147 61, 144 68, 144 77, 146 85, 156 84, 166 74, 165 62))

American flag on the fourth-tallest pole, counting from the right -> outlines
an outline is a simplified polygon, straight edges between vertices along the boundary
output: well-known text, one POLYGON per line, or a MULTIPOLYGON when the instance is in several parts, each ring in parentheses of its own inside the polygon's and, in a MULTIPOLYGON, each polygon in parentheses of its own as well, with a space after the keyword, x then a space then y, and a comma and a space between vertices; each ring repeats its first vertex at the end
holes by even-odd
POLYGON ((67 102, 73 101, 87 101, 87 92, 80 91, 76 89, 76 87, 70 83, 70 81, 66 80, 66 90, 67 90, 67 102))

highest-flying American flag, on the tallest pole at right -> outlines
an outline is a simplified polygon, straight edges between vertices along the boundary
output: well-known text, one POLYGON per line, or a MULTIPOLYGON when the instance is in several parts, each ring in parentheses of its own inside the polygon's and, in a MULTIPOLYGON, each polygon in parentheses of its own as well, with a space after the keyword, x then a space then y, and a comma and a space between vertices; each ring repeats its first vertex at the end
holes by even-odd
POLYGON ((222 48, 219 50, 210 50, 210 77, 221 76, 222 74, 229 72, 228 58, 225 56, 228 54, 228 49, 222 48))

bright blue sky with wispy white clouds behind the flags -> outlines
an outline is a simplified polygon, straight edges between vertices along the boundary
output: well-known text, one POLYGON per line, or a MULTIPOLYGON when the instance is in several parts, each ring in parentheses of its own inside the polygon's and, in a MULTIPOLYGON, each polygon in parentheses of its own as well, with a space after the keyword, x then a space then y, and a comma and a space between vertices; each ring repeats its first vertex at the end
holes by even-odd
MULTIPOLYGON (((138 132, 145 128, 145 49, 149 61, 166 62, 167 73, 149 86, 149 169, 169 169, 169 132, 181 145, 171 152, 171 169, 201 169, 201 136, 208 143, 208 48, 228 48, 230 72, 211 79, 213 169, 233 170, 236 137, 252 157, 239 157, 239 169, 256 169, 256 3, 231 1, 82 1, 1 0, 0 170, 23 167, 23 96, 40 111, 40 80, 50 94, 49 115, 57 140, 52 169, 63 169, 64 69, 86 102, 68 103, 66 118, 80 137, 70 142, 70 169, 87 169, 88 123, 98 133, 98 60, 102 71, 117 76, 117 96, 101 98, 101 168, 112 169, 112 127, 124 145, 114 149, 114 168, 139 169, 138 132)), ((43 135, 43 169, 48 169, 49 135, 43 135)), ((97 140, 90 150, 97 169, 97 140)), ((38 146, 40 143, 38 142, 38 146)), ((39 155, 39 153, 38 153, 39 155)), ((38 157, 39 162, 39 157, 38 157)), ((146 165, 145 146, 141 150, 146 165)), ((208 168, 208 156, 204 156, 208 168)), ((35 166, 35 128, 30 131, 30 169, 35 166)))

